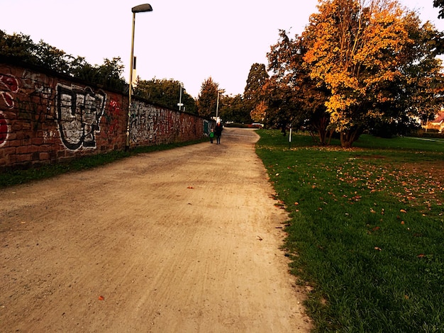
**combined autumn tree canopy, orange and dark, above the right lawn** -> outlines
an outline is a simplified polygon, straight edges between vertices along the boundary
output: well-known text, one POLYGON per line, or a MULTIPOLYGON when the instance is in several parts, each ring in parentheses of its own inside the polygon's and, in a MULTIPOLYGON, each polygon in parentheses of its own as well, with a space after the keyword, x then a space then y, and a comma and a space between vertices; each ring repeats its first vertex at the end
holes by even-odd
POLYGON ((396 0, 319 0, 301 36, 268 54, 267 118, 331 131, 350 147, 363 130, 402 133, 443 104, 443 34, 396 0), (404 127, 404 128, 403 128, 404 127))

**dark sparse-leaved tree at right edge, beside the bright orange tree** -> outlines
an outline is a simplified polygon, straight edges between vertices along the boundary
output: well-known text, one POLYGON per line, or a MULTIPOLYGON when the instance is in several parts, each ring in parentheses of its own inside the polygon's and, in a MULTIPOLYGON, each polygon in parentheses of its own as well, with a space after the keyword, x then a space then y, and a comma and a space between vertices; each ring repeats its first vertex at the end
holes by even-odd
POLYGON ((369 124, 379 136, 409 134, 418 128, 414 118, 433 118, 443 106, 441 60, 437 57, 443 53, 443 33, 430 22, 421 26, 415 13, 407 13, 403 20, 412 46, 404 52, 401 76, 385 87, 389 91, 385 96, 393 98, 374 105, 384 109, 382 117, 370 119, 369 124))

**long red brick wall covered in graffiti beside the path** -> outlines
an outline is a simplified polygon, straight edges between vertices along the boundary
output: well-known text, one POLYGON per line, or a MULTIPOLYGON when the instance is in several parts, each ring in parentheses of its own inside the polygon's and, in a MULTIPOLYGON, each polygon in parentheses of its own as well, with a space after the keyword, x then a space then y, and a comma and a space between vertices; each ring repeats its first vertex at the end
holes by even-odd
MULTIPOLYGON (((127 121, 125 94, 0 59, 0 169, 123 150, 127 121)), ((199 139, 206 123, 135 98, 131 146, 199 139)))

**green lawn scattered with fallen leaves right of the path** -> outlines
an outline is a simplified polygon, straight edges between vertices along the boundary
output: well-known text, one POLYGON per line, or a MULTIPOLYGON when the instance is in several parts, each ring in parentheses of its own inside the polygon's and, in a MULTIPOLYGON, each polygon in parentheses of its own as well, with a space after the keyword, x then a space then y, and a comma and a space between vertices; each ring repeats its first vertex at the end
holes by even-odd
POLYGON ((444 141, 257 133, 315 332, 443 332, 444 141))

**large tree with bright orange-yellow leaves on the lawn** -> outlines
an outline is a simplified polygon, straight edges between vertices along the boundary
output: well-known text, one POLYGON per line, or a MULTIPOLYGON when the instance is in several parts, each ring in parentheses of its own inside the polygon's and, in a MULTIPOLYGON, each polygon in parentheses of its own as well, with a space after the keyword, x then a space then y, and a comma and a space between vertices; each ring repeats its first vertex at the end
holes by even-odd
POLYGON ((371 119, 396 103, 394 87, 414 43, 395 0, 320 0, 306 33, 311 77, 331 91, 326 102, 341 145, 350 147, 371 119))

